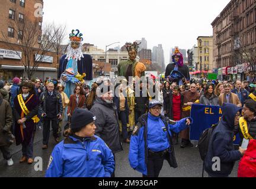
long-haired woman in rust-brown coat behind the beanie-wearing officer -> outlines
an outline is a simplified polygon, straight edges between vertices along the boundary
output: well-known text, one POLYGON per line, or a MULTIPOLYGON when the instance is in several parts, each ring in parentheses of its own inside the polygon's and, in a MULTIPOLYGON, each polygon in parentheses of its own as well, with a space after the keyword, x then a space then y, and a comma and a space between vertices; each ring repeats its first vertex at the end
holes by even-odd
POLYGON ((73 111, 76 109, 76 107, 82 108, 84 107, 85 103, 84 89, 81 86, 76 86, 73 93, 74 94, 72 94, 69 99, 67 112, 69 117, 72 116, 73 111))

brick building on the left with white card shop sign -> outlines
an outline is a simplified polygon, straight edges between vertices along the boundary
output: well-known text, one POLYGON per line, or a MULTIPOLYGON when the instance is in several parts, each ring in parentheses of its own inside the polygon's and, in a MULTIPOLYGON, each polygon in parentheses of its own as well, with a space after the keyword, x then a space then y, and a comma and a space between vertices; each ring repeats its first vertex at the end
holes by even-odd
MULTIPOLYGON (((38 24, 36 40, 33 43, 33 53, 38 51, 41 39, 41 27, 43 17, 40 11, 43 8, 43 0, 1 0, 0 6, 0 79, 11 80, 13 77, 27 77, 24 62, 24 52, 21 48, 21 39, 24 31, 20 30, 22 25, 31 22, 38 24), (36 7, 36 8, 34 8, 36 7), (17 25, 20 27, 18 28, 17 25), (2 59, 3 58, 3 59, 2 59), (22 58, 22 59, 21 59, 22 58)), ((24 30, 26 28, 24 27, 24 30)), ((31 62, 36 55, 30 57, 31 62)), ((33 63, 31 63, 33 64, 33 63)), ((34 73, 34 77, 45 79, 46 77, 57 76, 57 57, 56 53, 50 51, 40 60, 39 67, 34 73)))

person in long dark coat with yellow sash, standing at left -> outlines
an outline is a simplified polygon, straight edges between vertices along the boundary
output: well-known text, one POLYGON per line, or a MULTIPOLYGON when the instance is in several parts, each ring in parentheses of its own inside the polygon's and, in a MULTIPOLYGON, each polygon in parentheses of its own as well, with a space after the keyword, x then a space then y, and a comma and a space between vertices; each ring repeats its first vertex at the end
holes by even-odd
POLYGON ((34 94, 34 84, 23 82, 21 93, 14 99, 15 140, 16 145, 22 145, 23 157, 20 163, 27 161, 33 164, 33 141, 36 123, 39 122, 37 113, 39 99, 34 94))

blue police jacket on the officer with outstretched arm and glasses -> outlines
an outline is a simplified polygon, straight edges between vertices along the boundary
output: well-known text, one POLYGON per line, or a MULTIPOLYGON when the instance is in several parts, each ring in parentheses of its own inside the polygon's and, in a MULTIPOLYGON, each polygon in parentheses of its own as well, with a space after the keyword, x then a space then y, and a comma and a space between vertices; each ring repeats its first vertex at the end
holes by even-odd
MULTIPOLYGON (((144 119, 144 123, 137 123, 135 131, 133 131, 129 150, 130 166, 134 170, 141 172, 143 175, 147 175, 148 173, 146 168, 148 157, 146 154, 148 153, 148 149, 153 152, 161 152, 165 149, 173 148, 173 146, 171 146, 171 141, 168 139, 168 135, 171 138, 171 131, 179 133, 186 129, 188 127, 185 125, 186 119, 190 119, 191 124, 193 123, 192 118, 185 118, 176 122, 175 125, 168 123, 166 127, 162 116, 155 117, 152 116, 151 113, 148 113, 148 115, 143 115, 140 119, 143 119, 143 117, 145 118, 145 116, 147 120, 144 119), (146 133, 145 129, 147 131, 146 133)), ((167 159, 167 161, 169 162, 169 159, 167 159)), ((176 159, 174 161, 176 161, 176 159)))

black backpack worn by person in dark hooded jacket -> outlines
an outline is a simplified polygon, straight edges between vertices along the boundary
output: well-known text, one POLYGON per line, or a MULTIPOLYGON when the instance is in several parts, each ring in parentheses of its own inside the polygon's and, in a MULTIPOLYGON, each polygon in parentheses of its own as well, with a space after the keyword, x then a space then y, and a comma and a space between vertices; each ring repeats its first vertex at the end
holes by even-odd
POLYGON ((199 148, 200 157, 203 161, 206 158, 208 148, 209 148, 210 138, 216 126, 217 124, 212 125, 210 128, 204 130, 203 133, 201 133, 197 147, 199 148))

